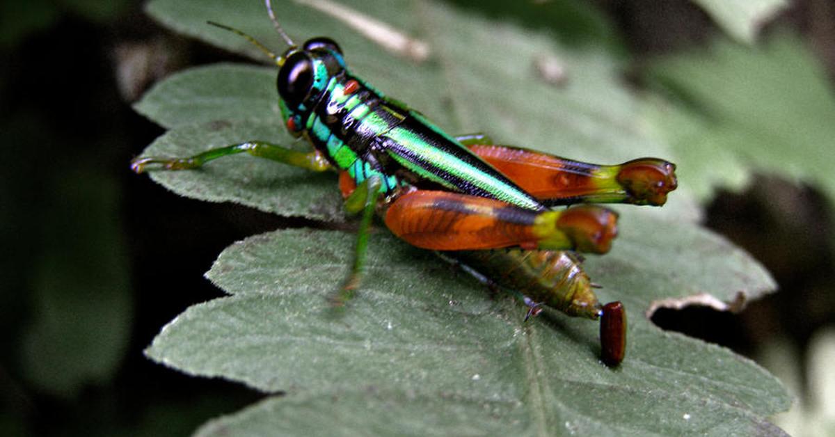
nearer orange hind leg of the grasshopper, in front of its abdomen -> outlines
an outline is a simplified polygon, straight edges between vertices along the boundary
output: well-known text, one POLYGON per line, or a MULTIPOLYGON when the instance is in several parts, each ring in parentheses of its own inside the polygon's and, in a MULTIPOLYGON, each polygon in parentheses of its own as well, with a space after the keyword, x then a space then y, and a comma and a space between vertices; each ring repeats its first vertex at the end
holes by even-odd
POLYGON ((404 194, 388 206, 385 221, 412 246, 438 251, 520 246, 604 253, 617 235, 617 214, 601 206, 532 211, 448 191, 404 194))

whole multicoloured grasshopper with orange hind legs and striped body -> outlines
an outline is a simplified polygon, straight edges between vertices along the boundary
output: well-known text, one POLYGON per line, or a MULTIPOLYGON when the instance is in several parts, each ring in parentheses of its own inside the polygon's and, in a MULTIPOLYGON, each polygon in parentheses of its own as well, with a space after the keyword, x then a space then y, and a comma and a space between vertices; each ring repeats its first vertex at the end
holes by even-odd
POLYGON ((615 212, 586 202, 663 205, 676 189, 675 165, 645 158, 593 165, 534 150, 492 145, 484 135, 453 137, 422 114, 387 98, 352 75, 342 50, 329 38, 301 47, 272 23, 290 46, 276 56, 247 38, 278 66, 284 124, 313 150, 303 153, 265 141, 247 141, 188 158, 137 158, 131 168, 195 169, 246 152, 308 170, 337 170, 350 212, 363 212, 352 273, 335 302, 359 285, 374 213, 408 243, 438 251, 490 287, 508 290, 529 306, 597 319, 605 363, 625 354, 625 313, 620 302, 601 306, 574 252, 605 253, 617 231, 615 212))

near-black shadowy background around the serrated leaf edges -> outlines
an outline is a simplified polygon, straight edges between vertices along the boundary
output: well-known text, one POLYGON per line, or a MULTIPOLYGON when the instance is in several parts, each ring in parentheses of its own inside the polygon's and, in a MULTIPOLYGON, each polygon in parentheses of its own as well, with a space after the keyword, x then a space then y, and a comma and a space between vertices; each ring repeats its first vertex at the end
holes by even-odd
MULTIPOLYGON (((130 108, 149 84, 243 59, 160 28, 138 2, 88 3, 0 9, 0 434, 187 434, 264 395, 187 377, 142 351, 185 307, 221 295, 200 278, 225 246, 286 222, 181 198, 129 171, 163 132, 130 108), (76 357, 54 358, 64 351, 76 357)), ((514 13, 507 3, 478 8, 514 13)), ((635 87, 646 58, 720 32, 684 0, 596 3, 635 59, 624 78, 635 87)), ((795 2, 775 21, 765 33, 794 28, 835 77, 832 2, 795 2)), ((752 186, 716 196, 706 224, 764 262, 780 292, 737 315, 660 310, 654 321, 752 356, 788 338, 802 363, 812 333, 835 319, 831 209, 812 187, 767 175, 752 186)))

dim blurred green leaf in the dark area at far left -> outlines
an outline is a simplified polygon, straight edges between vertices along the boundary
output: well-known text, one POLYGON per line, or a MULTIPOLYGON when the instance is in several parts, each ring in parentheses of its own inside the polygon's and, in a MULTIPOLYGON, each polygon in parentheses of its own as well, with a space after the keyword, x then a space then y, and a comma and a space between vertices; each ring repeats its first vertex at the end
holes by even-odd
POLYGON ((33 386, 65 398, 113 378, 133 317, 119 185, 103 173, 78 162, 49 175, 43 252, 31 272, 22 365, 33 386))

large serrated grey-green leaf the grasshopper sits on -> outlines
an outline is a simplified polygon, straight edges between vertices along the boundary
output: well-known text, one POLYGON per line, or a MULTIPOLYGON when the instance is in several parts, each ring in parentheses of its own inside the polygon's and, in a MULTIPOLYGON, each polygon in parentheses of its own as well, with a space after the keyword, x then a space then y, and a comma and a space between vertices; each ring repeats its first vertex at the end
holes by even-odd
MULTIPOLYGON (((650 139, 640 103, 620 83, 620 65, 604 48, 568 48, 546 33, 439 3, 345 2, 427 40, 429 60, 415 63, 322 13, 274 3, 292 37, 337 39, 355 74, 450 132, 484 132, 580 160, 673 157, 665 143, 650 139), (564 85, 541 79, 535 65, 542 58, 564 65, 564 85)), ((184 33, 261 58, 242 38, 205 20, 278 41, 260 4, 157 0, 149 12, 184 33)), ((138 104, 171 128, 144 155, 192 155, 244 140, 292 145, 273 86, 266 69, 228 64, 170 78, 138 104)), ((184 196, 342 220, 332 175, 236 156, 151 176, 184 196)), ((585 264, 606 287, 600 297, 628 307, 629 352, 616 370, 596 358, 597 324, 559 314, 523 323, 524 308, 513 300, 490 299, 473 280, 384 231, 372 235, 367 277, 342 311, 326 297, 347 274, 354 236, 276 231, 230 246, 208 276, 233 296, 190 307, 147 353, 187 373, 290 393, 209 424, 206 432, 230 426, 257 434, 280 429, 277 422, 299 431, 289 424, 308 418, 321 424, 321 434, 340 434, 347 432, 340 418, 364 418, 372 429, 390 422, 391 408, 396 417, 423 422, 397 429, 412 434, 431 434, 435 424, 438 434, 778 434, 763 419, 788 405, 776 379, 726 349, 665 333, 644 315, 651 301, 663 298, 757 297, 774 287, 767 272, 696 226, 700 211, 686 186, 664 208, 619 211, 615 250, 585 264), (321 414, 326 408, 334 414, 321 414), (483 420, 473 424, 473 418, 483 420)), ((396 432, 394 426, 381 433, 396 432)))

